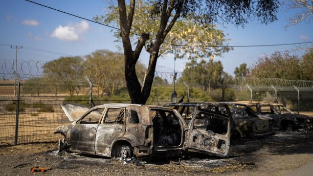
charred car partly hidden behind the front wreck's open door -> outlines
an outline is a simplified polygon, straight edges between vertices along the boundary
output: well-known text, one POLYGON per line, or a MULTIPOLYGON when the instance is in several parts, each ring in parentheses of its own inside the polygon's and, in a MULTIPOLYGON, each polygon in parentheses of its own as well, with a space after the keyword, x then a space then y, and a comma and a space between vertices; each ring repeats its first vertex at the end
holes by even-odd
MULTIPOLYGON (((193 112, 198 109, 214 111, 224 114, 231 119, 232 137, 257 137, 271 133, 271 118, 260 118, 245 104, 234 104, 229 102, 195 102, 195 103, 170 103, 165 107, 177 109, 186 123, 192 117, 193 112)), ((217 124, 218 125, 218 124, 217 124)))

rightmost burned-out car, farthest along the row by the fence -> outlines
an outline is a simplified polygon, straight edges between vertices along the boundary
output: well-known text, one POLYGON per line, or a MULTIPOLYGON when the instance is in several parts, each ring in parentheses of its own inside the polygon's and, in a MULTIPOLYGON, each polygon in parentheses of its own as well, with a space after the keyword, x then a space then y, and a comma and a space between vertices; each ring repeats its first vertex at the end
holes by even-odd
POLYGON ((247 106, 259 115, 266 115, 273 119, 272 129, 296 131, 299 129, 312 130, 313 117, 296 114, 279 103, 247 103, 247 106))

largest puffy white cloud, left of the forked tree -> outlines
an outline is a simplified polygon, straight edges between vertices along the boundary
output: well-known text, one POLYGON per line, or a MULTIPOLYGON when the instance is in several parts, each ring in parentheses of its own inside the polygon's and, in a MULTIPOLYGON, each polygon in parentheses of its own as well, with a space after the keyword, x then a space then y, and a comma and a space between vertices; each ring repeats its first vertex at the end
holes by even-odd
POLYGON ((54 29, 51 37, 62 41, 79 41, 82 39, 81 34, 89 30, 89 24, 86 21, 80 23, 68 24, 67 26, 59 25, 54 29))

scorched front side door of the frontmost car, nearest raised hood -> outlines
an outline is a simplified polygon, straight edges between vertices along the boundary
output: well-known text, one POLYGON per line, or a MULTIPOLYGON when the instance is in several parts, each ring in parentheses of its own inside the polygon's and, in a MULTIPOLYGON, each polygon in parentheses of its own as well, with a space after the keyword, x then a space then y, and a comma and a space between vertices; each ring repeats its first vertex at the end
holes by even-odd
POLYGON ((93 108, 81 117, 70 132, 71 151, 95 154, 94 141, 96 130, 105 108, 93 108))

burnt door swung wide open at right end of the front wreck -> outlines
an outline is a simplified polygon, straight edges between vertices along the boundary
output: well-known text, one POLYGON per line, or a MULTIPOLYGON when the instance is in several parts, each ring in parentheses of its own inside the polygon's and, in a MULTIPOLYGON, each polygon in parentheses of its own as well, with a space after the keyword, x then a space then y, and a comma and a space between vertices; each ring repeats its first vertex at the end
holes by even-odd
POLYGON ((230 125, 229 115, 197 110, 189 123, 185 148, 222 157, 228 156, 230 125))

